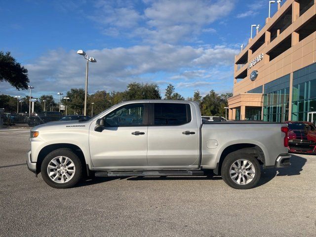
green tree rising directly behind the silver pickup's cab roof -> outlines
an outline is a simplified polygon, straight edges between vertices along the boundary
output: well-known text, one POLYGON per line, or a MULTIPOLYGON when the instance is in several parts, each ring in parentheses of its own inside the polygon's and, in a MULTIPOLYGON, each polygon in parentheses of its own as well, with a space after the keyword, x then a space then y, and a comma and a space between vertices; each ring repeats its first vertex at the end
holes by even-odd
POLYGON ((159 87, 155 83, 133 82, 127 85, 125 91, 127 100, 161 99, 159 87))

